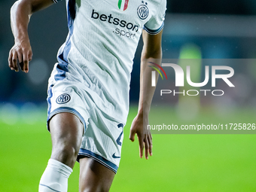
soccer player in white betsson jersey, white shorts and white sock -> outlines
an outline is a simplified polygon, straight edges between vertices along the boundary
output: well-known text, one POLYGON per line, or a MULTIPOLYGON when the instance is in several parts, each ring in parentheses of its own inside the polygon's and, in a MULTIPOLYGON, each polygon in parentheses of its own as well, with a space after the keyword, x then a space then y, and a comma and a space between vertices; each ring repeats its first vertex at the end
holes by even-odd
MULTIPOLYGON (((32 48, 27 27, 33 13, 59 0, 20 0, 11 8, 15 44, 9 66, 29 72, 32 48)), ((129 108, 130 73, 142 34, 139 111, 130 140, 139 139, 139 156, 152 155, 148 112, 154 87, 146 59, 160 64, 164 0, 67 0, 69 35, 59 48, 48 84, 47 128, 52 153, 39 191, 67 191, 75 160, 80 191, 108 191, 120 162, 123 126, 129 108), (157 59, 157 60, 156 60, 157 59), (143 126, 144 125, 144 126, 143 126)))

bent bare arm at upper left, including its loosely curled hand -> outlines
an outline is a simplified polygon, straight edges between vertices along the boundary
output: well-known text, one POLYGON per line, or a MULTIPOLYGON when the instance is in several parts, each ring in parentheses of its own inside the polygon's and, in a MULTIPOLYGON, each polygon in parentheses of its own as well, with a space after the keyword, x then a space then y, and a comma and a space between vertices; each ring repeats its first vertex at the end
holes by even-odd
POLYGON ((11 7, 11 30, 14 34, 14 47, 9 53, 11 70, 29 72, 29 61, 32 59, 32 49, 29 42, 28 25, 33 13, 52 5, 52 0, 19 0, 11 7))

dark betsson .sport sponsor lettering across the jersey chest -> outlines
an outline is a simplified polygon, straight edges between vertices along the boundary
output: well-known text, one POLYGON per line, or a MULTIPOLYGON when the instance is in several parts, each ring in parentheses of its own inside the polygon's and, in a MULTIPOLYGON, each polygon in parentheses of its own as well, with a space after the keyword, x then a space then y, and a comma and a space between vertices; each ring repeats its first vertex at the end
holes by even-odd
POLYGON ((136 32, 139 30, 139 26, 133 23, 128 23, 125 20, 120 20, 119 18, 113 17, 112 14, 108 16, 106 14, 99 14, 96 11, 92 12, 91 18, 94 20, 101 20, 102 22, 107 22, 114 26, 119 26, 113 32, 120 37, 126 37, 135 39, 136 32))

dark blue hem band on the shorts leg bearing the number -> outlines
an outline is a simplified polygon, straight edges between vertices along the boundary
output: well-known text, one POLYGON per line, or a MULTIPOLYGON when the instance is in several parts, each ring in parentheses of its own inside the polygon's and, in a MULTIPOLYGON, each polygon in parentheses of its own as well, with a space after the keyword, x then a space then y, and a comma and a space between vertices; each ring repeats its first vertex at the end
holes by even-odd
POLYGON ((106 160, 104 157, 100 156, 99 154, 95 154, 92 151, 81 148, 78 153, 78 162, 79 162, 79 159, 81 159, 81 156, 90 157, 93 160, 98 161, 108 169, 111 169, 114 173, 117 173, 118 166, 116 166, 114 163, 110 162, 109 160, 106 160))

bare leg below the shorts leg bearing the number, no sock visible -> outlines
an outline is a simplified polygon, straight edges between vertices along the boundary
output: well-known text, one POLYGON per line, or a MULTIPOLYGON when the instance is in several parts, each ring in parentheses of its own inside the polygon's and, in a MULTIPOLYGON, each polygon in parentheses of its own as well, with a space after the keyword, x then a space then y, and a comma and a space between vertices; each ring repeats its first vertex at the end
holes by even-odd
POLYGON ((101 163, 89 157, 80 162, 79 191, 96 192, 108 191, 111 187, 115 173, 101 163))

